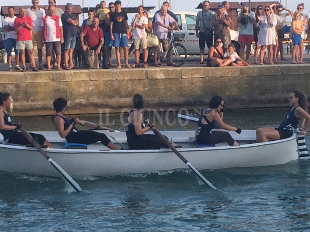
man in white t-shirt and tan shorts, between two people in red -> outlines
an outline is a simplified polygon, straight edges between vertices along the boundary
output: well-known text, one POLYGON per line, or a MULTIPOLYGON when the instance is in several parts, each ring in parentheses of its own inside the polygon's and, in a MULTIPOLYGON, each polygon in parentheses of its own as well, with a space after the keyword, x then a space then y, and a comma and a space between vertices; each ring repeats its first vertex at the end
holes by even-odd
POLYGON ((43 27, 41 25, 45 11, 39 7, 39 0, 32 0, 32 7, 27 9, 27 15, 32 19, 32 44, 37 42, 39 69, 42 69, 43 27))

